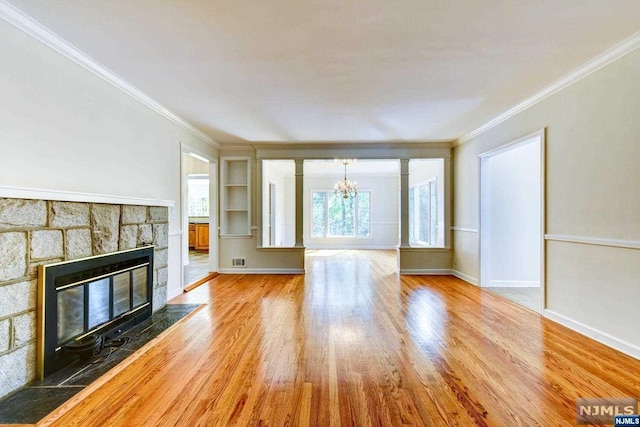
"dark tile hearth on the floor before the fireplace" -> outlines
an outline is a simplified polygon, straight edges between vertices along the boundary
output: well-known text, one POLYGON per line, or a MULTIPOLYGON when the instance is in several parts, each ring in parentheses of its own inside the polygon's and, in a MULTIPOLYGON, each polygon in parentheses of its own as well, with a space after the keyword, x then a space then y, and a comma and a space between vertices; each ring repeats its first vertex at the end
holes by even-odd
POLYGON ((120 335, 118 338, 123 338, 124 342, 121 346, 115 342, 113 346, 103 348, 95 358, 74 362, 1 399, 0 424, 37 423, 197 307, 199 304, 169 304, 120 335))

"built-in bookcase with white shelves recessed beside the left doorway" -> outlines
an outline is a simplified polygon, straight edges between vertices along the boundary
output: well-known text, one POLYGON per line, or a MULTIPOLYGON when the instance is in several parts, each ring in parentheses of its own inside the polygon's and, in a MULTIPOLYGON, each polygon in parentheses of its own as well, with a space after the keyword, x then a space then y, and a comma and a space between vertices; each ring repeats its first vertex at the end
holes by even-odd
POLYGON ((223 157, 220 168, 220 235, 251 235, 251 163, 248 157, 223 157))

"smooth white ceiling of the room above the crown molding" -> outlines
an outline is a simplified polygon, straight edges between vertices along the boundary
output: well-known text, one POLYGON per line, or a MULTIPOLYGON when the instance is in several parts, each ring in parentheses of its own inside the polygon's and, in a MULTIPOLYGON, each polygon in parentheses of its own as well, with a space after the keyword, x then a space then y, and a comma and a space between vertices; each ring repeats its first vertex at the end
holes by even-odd
POLYGON ((640 30, 637 0, 10 0, 220 144, 457 139, 640 30))

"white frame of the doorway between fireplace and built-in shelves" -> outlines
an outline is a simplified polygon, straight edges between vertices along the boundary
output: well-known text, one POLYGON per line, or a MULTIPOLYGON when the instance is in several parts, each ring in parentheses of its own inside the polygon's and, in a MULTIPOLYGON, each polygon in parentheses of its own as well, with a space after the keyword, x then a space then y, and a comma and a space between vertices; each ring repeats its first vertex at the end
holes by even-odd
POLYGON ((184 155, 196 154, 209 161, 209 271, 218 271, 218 158, 185 143, 180 143, 180 206, 182 244, 180 247, 180 281, 184 289, 184 266, 189 263, 189 215, 187 209, 187 175, 184 155))

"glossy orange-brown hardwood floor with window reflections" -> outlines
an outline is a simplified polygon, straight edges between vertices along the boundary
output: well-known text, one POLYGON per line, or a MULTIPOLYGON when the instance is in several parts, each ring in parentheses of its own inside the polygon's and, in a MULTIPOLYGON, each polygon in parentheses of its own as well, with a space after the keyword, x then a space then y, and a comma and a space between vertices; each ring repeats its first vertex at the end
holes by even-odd
POLYGON ((43 424, 564 426, 576 398, 640 397, 639 360, 395 262, 313 252, 306 276, 218 276, 172 301, 206 306, 43 424))

